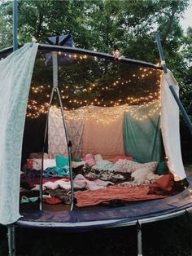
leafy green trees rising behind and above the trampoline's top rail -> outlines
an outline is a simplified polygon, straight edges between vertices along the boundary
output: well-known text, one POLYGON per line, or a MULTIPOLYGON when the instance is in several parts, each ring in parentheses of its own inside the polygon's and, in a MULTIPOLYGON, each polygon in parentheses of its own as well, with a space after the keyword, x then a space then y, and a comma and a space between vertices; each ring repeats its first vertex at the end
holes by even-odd
MULTIPOLYGON (((32 37, 43 43, 47 36, 71 33, 76 47, 111 53, 117 46, 121 55, 128 58, 157 63, 159 53, 155 31, 159 30, 168 68, 180 82, 181 97, 185 108, 190 111, 192 33, 190 28, 184 36, 179 24, 189 0, 18 2, 20 44, 31 41, 32 37)), ((12 3, 0 4, 0 48, 3 48, 11 45, 12 3)), ((45 81, 47 73, 43 72, 42 66, 39 66, 38 73, 41 74, 40 80, 45 81)), ((95 76, 94 73, 93 79, 97 72, 95 76)))

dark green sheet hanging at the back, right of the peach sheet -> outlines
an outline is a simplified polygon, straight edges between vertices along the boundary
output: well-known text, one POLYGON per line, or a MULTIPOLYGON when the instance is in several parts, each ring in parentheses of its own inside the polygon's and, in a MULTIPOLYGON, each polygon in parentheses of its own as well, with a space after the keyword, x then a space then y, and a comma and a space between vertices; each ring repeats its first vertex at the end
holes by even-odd
POLYGON ((141 162, 159 161, 159 101, 142 106, 130 106, 124 113, 124 153, 141 162))

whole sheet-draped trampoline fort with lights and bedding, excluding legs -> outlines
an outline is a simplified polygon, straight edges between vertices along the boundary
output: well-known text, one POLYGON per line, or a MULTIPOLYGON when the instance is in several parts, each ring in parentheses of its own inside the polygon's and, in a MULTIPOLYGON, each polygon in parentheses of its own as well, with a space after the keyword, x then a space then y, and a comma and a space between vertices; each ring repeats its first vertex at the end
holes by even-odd
POLYGON ((0 61, 0 223, 89 230, 191 207, 172 73, 51 47, 29 43, 0 61))

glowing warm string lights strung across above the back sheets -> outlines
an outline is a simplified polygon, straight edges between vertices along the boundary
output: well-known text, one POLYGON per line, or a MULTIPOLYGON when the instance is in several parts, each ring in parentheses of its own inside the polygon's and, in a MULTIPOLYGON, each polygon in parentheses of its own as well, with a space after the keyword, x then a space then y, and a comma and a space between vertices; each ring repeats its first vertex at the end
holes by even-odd
MULTIPOLYGON (((80 58, 86 59, 87 55, 72 55, 72 58, 80 58)), ((79 85, 79 84, 65 84, 62 85, 60 90, 61 98, 63 99, 63 105, 64 109, 68 110, 70 113, 70 109, 75 110, 82 107, 103 107, 106 108, 107 116, 110 117, 110 112, 113 112, 115 116, 120 115, 124 111, 129 112, 131 117, 138 121, 142 121, 143 119, 146 119, 147 117, 150 117, 153 113, 156 113, 159 111, 159 97, 160 97, 160 71, 155 70, 153 68, 137 68, 139 72, 135 72, 129 75, 129 79, 123 79, 118 78, 114 81, 109 82, 109 84, 103 84, 102 82, 90 82, 89 85, 79 85), (153 77, 155 75, 154 80, 154 88, 155 91, 150 92, 147 89, 147 77, 153 77), (139 88, 140 84, 143 86, 143 95, 142 91, 140 89, 139 93, 137 93, 137 87, 139 88), (145 89, 146 84, 146 89, 145 89), (134 86, 134 90, 136 91, 136 94, 142 95, 133 97, 132 95, 129 95, 125 97, 125 93, 123 91, 127 90, 127 88, 131 88, 134 86), (115 91, 114 91, 115 90, 115 91), (103 91, 103 92, 102 92, 103 91), (114 93, 113 93, 114 91, 114 93), (122 93, 119 93, 119 91, 122 91, 122 93), (105 93, 105 95, 103 94, 105 93), (110 97, 109 94, 112 94, 112 97, 110 97), (95 95, 95 96, 94 96, 95 95), (106 96, 109 95, 107 98, 106 96), (112 98, 110 100, 110 98, 112 98), (116 98, 116 99, 114 99, 116 98), (146 108, 150 106, 151 104, 154 104, 153 110, 149 110, 149 113, 146 113, 145 115, 139 116, 137 114, 137 110, 141 108, 141 106, 145 105, 146 108), (116 107, 119 110, 116 112, 112 111, 111 107, 114 109, 116 107), (133 108, 131 108, 133 107, 133 108), (110 111, 107 111, 107 108, 110 108, 110 111)), ((27 110, 27 117, 30 118, 37 118, 41 114, 47 113, 50 100, 50 93, 47 93, 47 87, 50 90, 51 86, 46 85, 40 85, 40 86, 32 86, 30 95, 28 100, 28 110, 27 110), (46 102, 43 104, 39 104, 38 102, 41 100, 37 100, 38 96, 41 95, 41 99, 43 96, 43 100, 46 102), (33 98, 33 99, 32 99, 33 98)), ((134 92, 133 90, 133 92, 134 92)), ((154 89, 153 89, 154 90, 154 89)), ((56 100, 56 98, 55 98, 56 100)), ((85 108, 84 108, 85 109, 85 108)), ((88 108, 89 109, 89 108, 88 108)), ((90 109, 89 109, 90 110, 90 109)), ((84 110, 85 111, 85 110, 84 110)), ((78 113, 79 114, 79 113, 78 113)), ((83 113, 85 115, 85 113, 83 113)), ((86 117, 89 116, 89 118, 94 118, 95 116, 90 116, 88 114, 85 115, 86 117)), ((103 113, 103 117, 105 114, 103 113)), ((81 115, 80 115, 81 117, 81 115)), ((70 118, 70 117, 69 117, 70 118)), ((74 117, 72 117, 74 118, 74 117)))

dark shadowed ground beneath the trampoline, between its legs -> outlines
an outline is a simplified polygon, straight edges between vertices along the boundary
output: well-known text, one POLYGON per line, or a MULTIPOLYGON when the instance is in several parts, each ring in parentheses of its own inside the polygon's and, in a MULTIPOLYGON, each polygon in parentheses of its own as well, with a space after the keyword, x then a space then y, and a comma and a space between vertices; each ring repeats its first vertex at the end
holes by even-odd
MULTIPOLYGON (((0 229, 0 255, 7 256, 6 228, 0 229)), ((142 226, 143 256, 191 256, 192 215, 142 226)), ((137 255, 136 227, 85 233, 16 229, 17 256, 137 255)))

